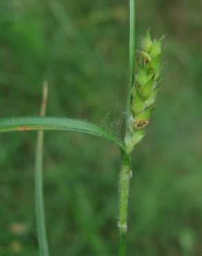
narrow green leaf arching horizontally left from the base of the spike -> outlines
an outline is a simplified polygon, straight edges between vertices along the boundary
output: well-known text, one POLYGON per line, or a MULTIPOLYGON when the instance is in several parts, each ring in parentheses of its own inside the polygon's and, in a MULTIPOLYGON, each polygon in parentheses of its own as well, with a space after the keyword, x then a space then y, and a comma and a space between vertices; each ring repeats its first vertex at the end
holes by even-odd
POLYGON ((116 134, 105 128, 93 125, 91 122, 55 117, 0 118, 0 132, 29 130, 62 130, 91 134, 109 140, 125 151, 122 141, 116 134))

